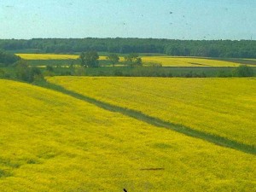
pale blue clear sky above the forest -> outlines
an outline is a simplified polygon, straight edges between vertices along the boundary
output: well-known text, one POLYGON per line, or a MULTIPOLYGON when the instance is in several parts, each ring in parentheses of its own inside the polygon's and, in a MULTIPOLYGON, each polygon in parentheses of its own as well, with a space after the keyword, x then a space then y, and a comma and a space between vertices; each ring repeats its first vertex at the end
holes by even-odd
POLYGON ((256 39, 255 0, 1 0, 0 38, 256 39))

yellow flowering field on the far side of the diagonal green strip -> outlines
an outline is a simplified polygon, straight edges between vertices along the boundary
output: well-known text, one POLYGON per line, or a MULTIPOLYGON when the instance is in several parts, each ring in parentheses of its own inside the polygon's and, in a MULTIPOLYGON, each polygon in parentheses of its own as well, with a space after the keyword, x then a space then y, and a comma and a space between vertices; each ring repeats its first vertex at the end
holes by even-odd
POLYGON ((102 102, 255 147, 256 79, 54 77, 102 102))

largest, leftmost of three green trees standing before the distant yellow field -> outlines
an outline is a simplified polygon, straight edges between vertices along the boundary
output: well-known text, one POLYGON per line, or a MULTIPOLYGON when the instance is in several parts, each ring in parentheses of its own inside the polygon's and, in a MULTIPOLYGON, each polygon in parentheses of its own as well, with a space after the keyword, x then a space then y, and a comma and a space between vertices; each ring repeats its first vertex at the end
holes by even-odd
POLYGON ((96 51, 82 52, 79 58, 83 67, 99 67, 100 57, 96 51))

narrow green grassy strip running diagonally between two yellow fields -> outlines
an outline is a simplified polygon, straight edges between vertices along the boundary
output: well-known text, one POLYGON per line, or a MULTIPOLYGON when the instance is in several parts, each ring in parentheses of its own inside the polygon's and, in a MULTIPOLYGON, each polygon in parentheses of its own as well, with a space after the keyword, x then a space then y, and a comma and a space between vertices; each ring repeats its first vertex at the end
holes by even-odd
POLYGON ((239 150, 241 152, 247 153, 247 154, 256 154, 256 148, 254 146, 250 146, 244 143, 238 143, 236 141, 230 140, 228 138, 219 137, 216 135, 212 135, 203 131, 196 131, 188 126, 184 125, 177 125, 170 122, 166 122, 162 119, 154 118, 152 116, 149 116, 147 114, 144 114, 142 112, 130 109, 130 108, 122 108, 119 106, 115 106, 112 104, 109 104, 107 102, 101 102, 94 98, 91 98, 89 96, 84 96, 82 94, 79 94, 77 92, 74 92, 72 90, 67 90, 61 85, 58 84, 52 84, 49 82, 39 83, 38 86, 47 88, 49 90, 56 90, 59 91, 65 95, 73 96, 76 99, 82 100, 84 102, 89 102, 91 104, 96 105, 99 108, 103 108, 105 110, 115 112, 115 113, 122 113, 125 116, 129 116, 133 119, 141 120, 145 123, 148 123, 150 125, 154 125, 161 128, 166 128, 172 131, 177 131, 179 133, 182 133, 189 137, 195 137, 200 138, 204 141, 207 141, 209 143, 214 143, 216 145, 226 147, 226 148, 233 148, 236 150, 239 150))

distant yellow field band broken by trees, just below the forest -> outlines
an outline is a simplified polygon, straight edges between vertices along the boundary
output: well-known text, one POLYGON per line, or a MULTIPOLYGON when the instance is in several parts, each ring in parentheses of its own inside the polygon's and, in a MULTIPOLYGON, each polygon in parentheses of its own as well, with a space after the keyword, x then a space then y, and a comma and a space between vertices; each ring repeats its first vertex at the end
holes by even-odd
MULTIPOLYGON (((47 60, 77 60, 79 55, 55 55, 55 54, 16 54, 28 61, 47 61, 47 60)), ((245 59, 221 59, 221 58, 198 58, 198 57, 175 57, 175 56, 142 56, 144 65, 161 64, 163 67, 238 67, 241 64, 255 66, 255 61, 245 59)), ((106 60, 106 56, 100 56, 100 60, 106 60)), ((124 57, 120 57, 124 61, 124 57)))

